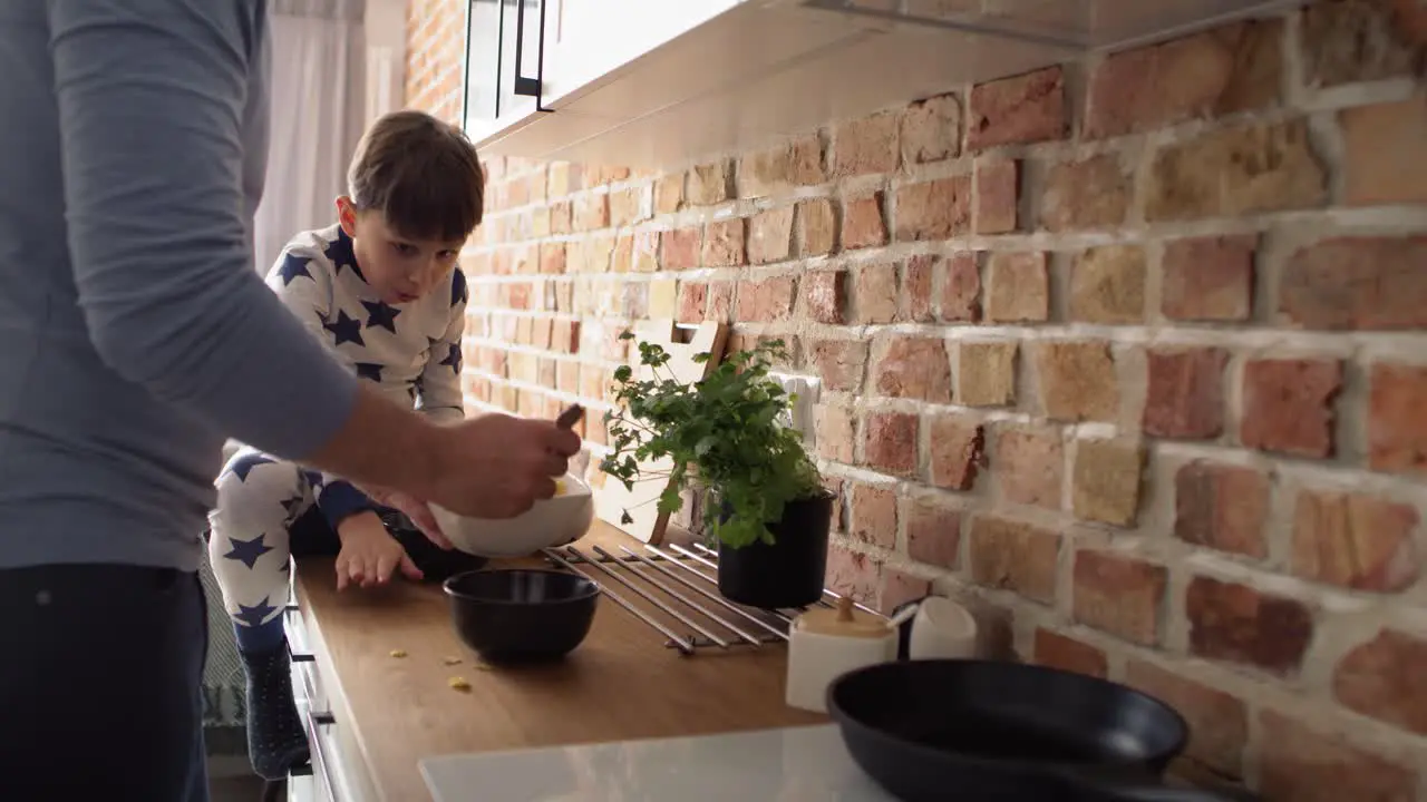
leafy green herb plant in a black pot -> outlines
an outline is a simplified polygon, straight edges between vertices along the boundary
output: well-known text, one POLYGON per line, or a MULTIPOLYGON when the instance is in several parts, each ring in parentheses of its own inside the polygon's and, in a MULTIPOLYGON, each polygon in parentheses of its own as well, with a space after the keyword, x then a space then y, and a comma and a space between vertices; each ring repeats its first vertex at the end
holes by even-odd
POLYGON ((783 422, 795 398, 769 377, 785 357, 781 340, 761 342, 684 382, 662 347, 639 342, 648 371, 615 371, 616 407, 605 414, 612 451, 599 464, 632 489, 652 478, 641 462, 668 458, 659 511, 678 511, 686 488, 701 491, 705 527, 718 541, 719 592, 765 609, 822 598, 832 525, 833 495, 802 435, 783 422))

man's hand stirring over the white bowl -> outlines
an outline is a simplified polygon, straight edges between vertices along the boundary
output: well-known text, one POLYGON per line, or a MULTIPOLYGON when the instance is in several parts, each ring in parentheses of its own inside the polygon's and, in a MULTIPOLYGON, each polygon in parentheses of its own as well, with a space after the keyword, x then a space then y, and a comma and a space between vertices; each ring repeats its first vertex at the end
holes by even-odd
POLYGON ((555 495, 555 479, 569 471, 579 435, 552 421, 487 414, 441 427, 431 438, 432 471, 412 494, 452 512, 514 518, 555 495))

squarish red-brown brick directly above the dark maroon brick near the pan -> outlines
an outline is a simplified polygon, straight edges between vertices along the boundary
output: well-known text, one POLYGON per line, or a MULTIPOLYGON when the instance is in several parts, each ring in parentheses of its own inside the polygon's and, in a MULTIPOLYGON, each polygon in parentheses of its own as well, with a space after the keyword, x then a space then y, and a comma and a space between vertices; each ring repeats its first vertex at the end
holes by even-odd
POLYGON ((1174 474, 1174 537, 1261 559, 1270 489, 1269 477, 1253 468, 1189 462, 1174 474))

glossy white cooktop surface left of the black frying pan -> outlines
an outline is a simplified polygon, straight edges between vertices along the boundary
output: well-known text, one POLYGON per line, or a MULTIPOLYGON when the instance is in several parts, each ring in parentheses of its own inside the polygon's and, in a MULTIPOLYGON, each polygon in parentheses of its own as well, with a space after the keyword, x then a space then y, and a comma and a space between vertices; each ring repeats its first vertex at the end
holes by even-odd
POLYGON ((447 755, 421 776, 435 802, 895 802, 831 724, 447 755))

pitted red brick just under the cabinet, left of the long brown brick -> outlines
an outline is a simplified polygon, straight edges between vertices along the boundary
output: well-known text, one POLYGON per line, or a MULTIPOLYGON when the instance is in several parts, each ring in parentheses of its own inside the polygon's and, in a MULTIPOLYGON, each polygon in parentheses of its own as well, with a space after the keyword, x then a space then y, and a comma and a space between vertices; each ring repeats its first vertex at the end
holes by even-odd
POLYGON ((1047 67, 973 87, 966 147, 1059 140, 1069 127, 1065 76, 1047 67))

